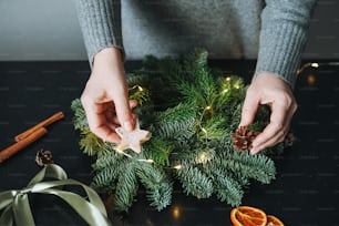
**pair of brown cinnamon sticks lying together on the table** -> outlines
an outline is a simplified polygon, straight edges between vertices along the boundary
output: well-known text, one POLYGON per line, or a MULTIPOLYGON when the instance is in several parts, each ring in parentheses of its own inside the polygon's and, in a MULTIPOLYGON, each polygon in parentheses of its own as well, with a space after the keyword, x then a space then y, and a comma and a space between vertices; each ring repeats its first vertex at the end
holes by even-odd
POLYGON ((48 125, 63 117, 64 117, 64 114, 62 112, 58 112, 53 114, 52 116, 48 117, 47 120, 41 121, 37 125, 17 135, 14 137, 16 143, 0 152, 0 163, 4 162, 6 160, 11 157, 19 151, 23 150, 28 145, 32 144, 33 142, 42 137, 44 134, 48 133, 45 129, 48 125))

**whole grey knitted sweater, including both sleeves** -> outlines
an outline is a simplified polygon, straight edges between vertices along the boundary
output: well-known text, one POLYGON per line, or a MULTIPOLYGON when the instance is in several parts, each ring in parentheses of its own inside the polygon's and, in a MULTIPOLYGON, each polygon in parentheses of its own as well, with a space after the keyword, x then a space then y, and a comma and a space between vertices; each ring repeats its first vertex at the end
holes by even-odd
POLYGON ((212 59, 257 59, 256 74, 292 88, 317 0, 74 1, 90 62, 106 47, 127 59, 204 48, 212 59))

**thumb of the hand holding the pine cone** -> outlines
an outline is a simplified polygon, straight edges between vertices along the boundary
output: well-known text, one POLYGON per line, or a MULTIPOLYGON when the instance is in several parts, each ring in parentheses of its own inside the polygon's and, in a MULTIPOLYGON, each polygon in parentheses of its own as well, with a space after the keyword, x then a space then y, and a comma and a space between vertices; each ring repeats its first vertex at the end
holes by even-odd
POLYGON ((239 126, 249 126, 255 120, 259 101, 250 95, 246 95, 243 110, 242 110, 242 120, 239 126))

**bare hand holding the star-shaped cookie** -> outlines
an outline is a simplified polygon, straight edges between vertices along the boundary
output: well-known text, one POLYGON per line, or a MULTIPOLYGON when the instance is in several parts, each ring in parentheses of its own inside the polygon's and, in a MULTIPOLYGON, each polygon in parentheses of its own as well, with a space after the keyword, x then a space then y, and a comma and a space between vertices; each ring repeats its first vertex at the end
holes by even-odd
POLYGON ((121 50, 106 48, 94 56, 92 74, 81 95, 92 133, 106 142, 120 143, 115 129, 132 131, 136 115, 132 109, 136 101, 129 101, 129 90, 121 50))

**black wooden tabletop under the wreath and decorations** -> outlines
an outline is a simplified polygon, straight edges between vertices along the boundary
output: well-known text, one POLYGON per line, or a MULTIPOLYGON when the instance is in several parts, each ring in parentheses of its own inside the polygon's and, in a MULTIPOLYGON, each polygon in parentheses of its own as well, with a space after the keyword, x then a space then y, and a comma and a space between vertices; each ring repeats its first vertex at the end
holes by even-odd
MULTIPOLYGON (((328 61, 321 60, 322 63, 328 61)), ((213 61, 225 74, 250 81, 254 61, 213 61)), ((140 66, 127 62, 126 69, 140 66)), ((65 119, 49 133, 0 165, 0 191, 22 188, 39 172, 35 153, 50 150, 69 177, 91 182, 92 160, 79 148, 72 125, 71 101, 79 97, 90 74, 88 62, 0 62, 0 150, 13 137, 58 111, 65 119)), ((296 89, 299 103, 292 121, 297 142, 276 157, 277 178, 270 185, 253 184, 244 205, 263 208, 286 225, 339 225, 339 66, 307 69, 296 89)), ((1 202, 1 201, 0 201, 1 202)), ((30 197, 37 225, 84 225, 63 202, 50 196, 30 197)), ((216 198, 196 199, 176 189, 170 207, 151 208, 141 191, 131 212, 114 215, 114 225, 230 225, 230 207, 216 198)))

